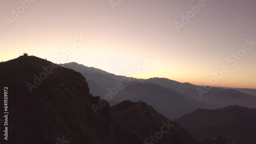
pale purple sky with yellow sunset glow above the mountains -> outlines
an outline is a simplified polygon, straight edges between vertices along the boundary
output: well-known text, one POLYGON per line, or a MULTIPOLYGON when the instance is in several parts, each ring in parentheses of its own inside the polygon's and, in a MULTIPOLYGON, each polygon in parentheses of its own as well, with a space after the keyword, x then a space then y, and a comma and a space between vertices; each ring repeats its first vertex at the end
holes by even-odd
POLYGON ((254 0, 0 1, 0 61, 26 52, 135 78, 256 88, 255 6, 254 0), (143 67, 141 57, 150 59, 143 67))

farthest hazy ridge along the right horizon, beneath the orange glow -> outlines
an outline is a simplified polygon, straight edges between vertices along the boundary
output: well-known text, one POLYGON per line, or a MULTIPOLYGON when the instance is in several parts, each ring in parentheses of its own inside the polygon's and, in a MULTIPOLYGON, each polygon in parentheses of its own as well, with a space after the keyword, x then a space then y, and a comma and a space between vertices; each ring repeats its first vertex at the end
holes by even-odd
POLYGON ((155 83, 166 88, 175 89, 188 97, 207 104, 219 105, 221 107, 240 105, 256 108, 256 97, 254 97, 254 95, 235 89, 212 87, 207 91, 207 93, 203 93, 201 98, 199 97, 198 88, 204 89, 203 86, 197 86, 190 83, 179 83, 163 78, 153 78, 145 81, 155 83))

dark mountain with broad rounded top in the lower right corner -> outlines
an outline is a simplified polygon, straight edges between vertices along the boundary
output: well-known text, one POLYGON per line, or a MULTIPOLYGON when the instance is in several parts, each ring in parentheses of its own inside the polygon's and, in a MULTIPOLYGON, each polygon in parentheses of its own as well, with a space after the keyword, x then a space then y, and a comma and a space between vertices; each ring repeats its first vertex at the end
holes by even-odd
POLYGON ((254 144, 256 141, 256 109, 228 106, 216 110, 197 109, 177 121, 195 137, 215 137, 254 144))

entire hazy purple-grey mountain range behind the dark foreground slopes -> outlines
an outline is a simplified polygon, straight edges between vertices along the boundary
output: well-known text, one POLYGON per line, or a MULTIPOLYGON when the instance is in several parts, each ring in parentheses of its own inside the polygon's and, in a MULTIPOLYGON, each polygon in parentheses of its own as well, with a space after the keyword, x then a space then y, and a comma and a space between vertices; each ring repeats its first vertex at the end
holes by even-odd
POLYGON ((106 93, 110 93, 108 88, 111 89, 121 82, 123 88, 118 90, 110 101, 111 105, 123 100, 133 102, 141 100, 152 105, 158 112, 170 119, 179 118, 198 108, 217 109, 230 105, 256 108, 254 95, 235 89, 212 87, 201 98, 198 88, 204 89, 203 86, 180 83, 166 78, 136 79, 116 76, 75 62, 59 65, 81 73, 89 81, 93 95, 100 95, 103 99, 106 93))

